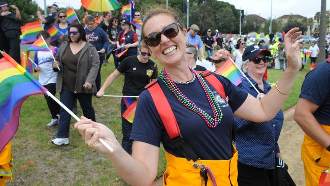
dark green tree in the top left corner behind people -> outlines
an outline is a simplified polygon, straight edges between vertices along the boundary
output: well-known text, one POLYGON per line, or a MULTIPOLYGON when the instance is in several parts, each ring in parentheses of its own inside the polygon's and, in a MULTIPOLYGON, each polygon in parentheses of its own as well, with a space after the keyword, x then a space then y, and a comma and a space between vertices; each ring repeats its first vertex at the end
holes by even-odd
MULTIPOLYGON (((32 0, 7 0, 8 5, 15 5, 21 13, 21 19, 18 21, 19 25, 24 25, 27 22, 38 20, 37 10, 38 4, 32 0)), ((9 11, 13 11, 11 8, 9 11)))

